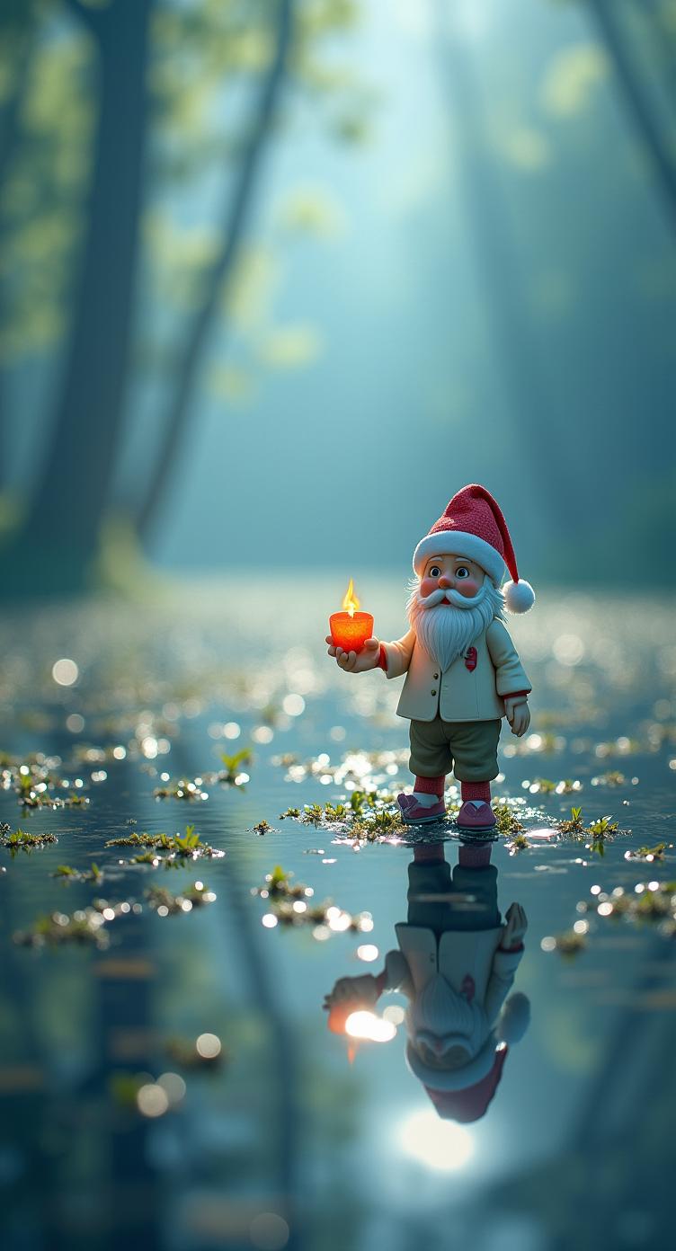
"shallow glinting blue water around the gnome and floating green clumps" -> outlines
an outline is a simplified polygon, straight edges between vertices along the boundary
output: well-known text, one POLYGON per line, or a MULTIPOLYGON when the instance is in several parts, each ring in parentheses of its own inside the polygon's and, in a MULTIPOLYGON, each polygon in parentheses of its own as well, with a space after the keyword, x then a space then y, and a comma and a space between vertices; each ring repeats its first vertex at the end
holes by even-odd
MULTIPOLYGON (((533 722, 518 744, 503 731, 494 793, 518 801, 531 846, 510 854, 501 837, 492 859, 502 913, 518 901, 528 917, 513 988, 531 1001, 531 1025, 486 1116, 458 1126, 437 1117, 407 1068, 401 1023, 388 1042, 351 1045, 327 1030, 322 1001, 335 980, 378 972, 396 947, 418 836, 354 846, 344 826, 279 819, 349 799, 356 786, 409 783, 401 683, 337 671, 323 636, 342 588, 318 578, 304 592, 307 582, 187 585, 161 605, 55 607, 0 629, 0 751, 56 758, 71 783, 58 793, 89 801, 24 812, 9 781, 0 791, 0 822, 59 838, 14 857, 0 849, 3 1246, 667 1245, 673 938, 598 914, 592 887, 635 894, 676 878, 668 846, 662 861, 626 856, 676 842, 671 605, 550 592, 510 620, 533 722), (74 686, 54 681, 60 658, 78 664, 74 686), (245 747, 253 759, 235 767, 238 784, 204 783, 208 798, 192 802, 153 797, 163 773, 204 778, 220 753, 245 747), (573 788, 546 793, 542 778, 573 788), (603 856, 588 838, 532 837, 571 806, 585 822, 618 822, 603 856), (262 821, 264 834, 253 828, 262 821), (188 823, 225 856, 168 869, 104 847, 188 823), (99 884, 50 876, 93 862, 99 884), (314 891, 310 902, 368 912, 372 928, 270 926, 269 901, 252 889, 275 864, 314 891), (179 893, 195 879, 213 903, 150 909, 150 886, 179 893), (105 924, 105 950, 13 941, 39 914, 71 916, 96 897, 141 906, 105 924), (576 922, 588 923, 583 950, 547 950, 576 922), (203 1035, 220 1040, 220 1062, 188 1062, 203 1035), (185 1088, 165 1078, 165 1107, 156 1078, 166 1073, 185 1088)), ((402 633, 396 580, 366 572, 357 585, 377 632, 402 633)), ((454 863, 454 824, 428 834, 454 863)), ((377 1011, 403 1003, 387 996, 377 1011)))

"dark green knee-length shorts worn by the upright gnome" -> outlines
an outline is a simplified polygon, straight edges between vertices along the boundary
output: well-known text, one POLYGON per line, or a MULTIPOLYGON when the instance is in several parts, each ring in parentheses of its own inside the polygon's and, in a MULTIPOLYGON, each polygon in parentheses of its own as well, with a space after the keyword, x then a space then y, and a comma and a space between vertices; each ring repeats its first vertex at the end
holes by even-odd
POLYGON ((408 767, 423 778, 453 771, 458 782, 492 782, 498 776, 497 744, 502 718, 494 721, 412 721, 408 767))

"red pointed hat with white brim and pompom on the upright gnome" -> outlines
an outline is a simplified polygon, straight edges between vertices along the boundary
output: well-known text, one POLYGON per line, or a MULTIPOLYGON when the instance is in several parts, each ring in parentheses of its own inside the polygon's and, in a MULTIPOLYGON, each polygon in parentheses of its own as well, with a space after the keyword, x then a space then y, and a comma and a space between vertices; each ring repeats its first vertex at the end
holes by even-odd
POLYGON ((418 577, 429 557, 449 553, 474 560, 496 587, 499 587, 507 569, 512 580, 503 587, 503 594, 511 613, 527 613, 533 607, 533 588, 518 577, 507 522, 486 487, 471 483, 453 495, 443 515, 413 553, 413 568, 418 577))

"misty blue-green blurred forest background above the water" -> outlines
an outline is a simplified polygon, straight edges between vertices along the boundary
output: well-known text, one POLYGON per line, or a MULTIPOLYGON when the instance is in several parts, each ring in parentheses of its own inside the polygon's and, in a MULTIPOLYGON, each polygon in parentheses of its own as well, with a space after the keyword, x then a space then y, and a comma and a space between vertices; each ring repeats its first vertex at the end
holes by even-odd
POLYGON ((675 0, 1 0, 5 597, 671 577, 675 0), (526 559, 527 557, 527 559, 526 559))

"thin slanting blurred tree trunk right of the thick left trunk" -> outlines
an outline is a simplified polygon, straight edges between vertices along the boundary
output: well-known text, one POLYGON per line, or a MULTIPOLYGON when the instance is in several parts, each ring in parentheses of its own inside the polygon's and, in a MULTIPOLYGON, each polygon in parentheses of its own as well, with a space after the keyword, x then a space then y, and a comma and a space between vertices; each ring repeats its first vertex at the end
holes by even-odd
POLYGON ((208 334, 218 305, 228 293, 242 251, 247 220, 260 174, 262 158, 274 123, 279 90, 284 79, 292 44, 293 18, 294 0, 278 0, 274 53, 260 85, 257 113, 244 148, 242 169, 237 175, 233 195, 225 206, 223 244, 205 278, 202 306, 179 352, 178 379, 166 415, 161 447, 151 470, 145 498, 136 515, 138 530, 144 539, 148 539, 155 527, 161 503, 166 495, 185 437, 190 402, 208 334))

